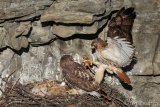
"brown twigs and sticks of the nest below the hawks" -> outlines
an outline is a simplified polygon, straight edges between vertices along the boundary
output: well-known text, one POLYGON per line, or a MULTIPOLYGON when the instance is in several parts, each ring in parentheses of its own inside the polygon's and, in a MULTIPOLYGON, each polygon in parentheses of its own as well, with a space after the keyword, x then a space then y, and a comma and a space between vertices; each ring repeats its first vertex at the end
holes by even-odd
POLYGON ((126 98, 115 89, 108 87, 107 84, 102 84, 101 87, 108 95, 110 94, 112 101, 104 98, 98 99, 87 94, 56 93, 42 97, 30 91, 37 83, 22 85, 17 81, 11 85, 6 79, 3 80, 6 82, 6 88, 0 99, 2 107, 134 107, 134 105, 126 104, 124 102, 126 98))

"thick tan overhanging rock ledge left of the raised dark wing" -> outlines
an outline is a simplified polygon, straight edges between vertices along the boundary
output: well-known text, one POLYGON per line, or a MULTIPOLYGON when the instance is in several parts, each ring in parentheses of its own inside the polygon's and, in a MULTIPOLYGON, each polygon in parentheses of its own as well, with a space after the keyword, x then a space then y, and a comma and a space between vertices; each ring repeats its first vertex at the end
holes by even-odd
POLYGON ((107 23, 104 17, 110 13, 109 4, 107 0, 57 1, 42 14, 40 20, 56 22, 52 31, 63 38, 74 34, 95 34, 107 23))

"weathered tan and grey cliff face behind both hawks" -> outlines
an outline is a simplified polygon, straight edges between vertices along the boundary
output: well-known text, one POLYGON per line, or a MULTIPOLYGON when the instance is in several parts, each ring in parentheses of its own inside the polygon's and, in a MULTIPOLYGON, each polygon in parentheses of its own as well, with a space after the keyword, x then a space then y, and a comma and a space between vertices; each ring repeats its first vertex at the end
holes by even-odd
MULTIPOLYGON (((90 43, 106 38, 109 14, 122 6, 136 10, 132 34, 137 62, 126 68, 132 90, 115 77, 111 85, 132 99, 127 103, 159 107, 159 0, 0 0, 0 83, 4 86, 2 78, 15 70, 12 82, 62 80, 63 54, 78 62, 82 55, 95 60, 90 43)), ((105 78, 109 83, 111 77, 105 78)))

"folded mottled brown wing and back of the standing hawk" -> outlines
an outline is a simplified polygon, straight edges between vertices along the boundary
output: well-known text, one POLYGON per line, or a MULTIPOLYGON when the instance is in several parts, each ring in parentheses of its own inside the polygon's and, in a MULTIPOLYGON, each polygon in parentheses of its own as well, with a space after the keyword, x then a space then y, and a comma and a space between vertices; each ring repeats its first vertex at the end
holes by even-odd
POLYGON ((64 78, 72 88, 82 89, 87 92, 97 91, 100 87, 94 78, 79 63, 74 62, 71 66, 62 70, 64 78))

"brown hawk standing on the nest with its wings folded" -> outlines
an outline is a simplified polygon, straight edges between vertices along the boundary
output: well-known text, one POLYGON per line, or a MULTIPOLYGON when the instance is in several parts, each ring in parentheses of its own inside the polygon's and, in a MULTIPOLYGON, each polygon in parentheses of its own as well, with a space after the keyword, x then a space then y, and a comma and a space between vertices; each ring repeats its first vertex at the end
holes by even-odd
POLYGON ((110 99, 110 97, 105 95, 100 89, 99 83, 95 78, 92 77, 82 65, 74 62, 72 56, 63 55, 60 59, 60 67, 62 68, 65 82, 79 94, 87 93, 93 96, 103 96, 110 99))

